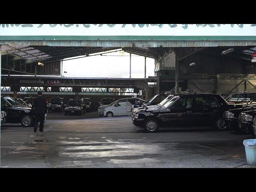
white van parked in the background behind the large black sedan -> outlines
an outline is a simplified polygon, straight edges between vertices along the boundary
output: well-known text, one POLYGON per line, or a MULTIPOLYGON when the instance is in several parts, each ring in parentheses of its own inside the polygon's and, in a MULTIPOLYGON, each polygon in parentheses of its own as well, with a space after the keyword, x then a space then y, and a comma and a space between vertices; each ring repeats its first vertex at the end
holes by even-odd
POLYGON ((105 117, 131 115, 131 106, 140 102, 145 102, 140 98, 121 98, 110 106, 104 108, 103 115, 105 117))

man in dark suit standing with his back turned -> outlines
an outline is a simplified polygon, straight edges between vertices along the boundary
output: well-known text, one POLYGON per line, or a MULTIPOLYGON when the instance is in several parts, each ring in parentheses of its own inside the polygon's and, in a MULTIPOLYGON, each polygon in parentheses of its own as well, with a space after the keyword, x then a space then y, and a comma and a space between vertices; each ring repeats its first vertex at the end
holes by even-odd
POLYGON ((43 132, 44 130, 44 115, 47 113, 47 103, 46 100, 42 97, 42 91, 37 92, 38 96, 34 98, 32 104, 32 110, 34 110, 34 132, 36 132, 38 127, 38 122, 40 122, 39 131, 43 132))

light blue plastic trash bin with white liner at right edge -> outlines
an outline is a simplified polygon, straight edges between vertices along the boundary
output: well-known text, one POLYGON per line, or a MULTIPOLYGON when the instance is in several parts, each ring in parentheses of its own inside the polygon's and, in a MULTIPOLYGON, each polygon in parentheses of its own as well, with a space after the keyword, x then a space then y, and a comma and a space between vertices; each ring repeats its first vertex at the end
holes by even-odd
POLYGON ((247 139, 243 142, 248 165, 256 165, 256 139, 247 139))

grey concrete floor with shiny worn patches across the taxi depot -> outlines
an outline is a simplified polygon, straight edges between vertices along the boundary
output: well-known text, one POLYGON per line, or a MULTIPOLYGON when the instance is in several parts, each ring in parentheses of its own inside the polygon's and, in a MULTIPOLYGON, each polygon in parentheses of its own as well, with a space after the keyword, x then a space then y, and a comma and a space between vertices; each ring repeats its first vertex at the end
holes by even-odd
POLYGON ((130 116, 102 118, 49 113, 44 132, 1 126, 2 168, 255 168, 243 140, 210 127, 161 128, 145 133, 130 116))

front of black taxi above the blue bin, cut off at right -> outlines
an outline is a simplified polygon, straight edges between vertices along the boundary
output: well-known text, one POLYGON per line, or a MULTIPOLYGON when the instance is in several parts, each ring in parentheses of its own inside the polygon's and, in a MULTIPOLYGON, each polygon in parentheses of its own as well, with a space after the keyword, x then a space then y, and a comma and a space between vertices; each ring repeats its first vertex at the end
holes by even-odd
POLYGON ((250 106, 251 110, 240 112, 238 116, 238 128, 237 130, 246 134, 254 134, 253 123, 256 117, 256 105, 250 106))

